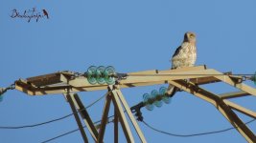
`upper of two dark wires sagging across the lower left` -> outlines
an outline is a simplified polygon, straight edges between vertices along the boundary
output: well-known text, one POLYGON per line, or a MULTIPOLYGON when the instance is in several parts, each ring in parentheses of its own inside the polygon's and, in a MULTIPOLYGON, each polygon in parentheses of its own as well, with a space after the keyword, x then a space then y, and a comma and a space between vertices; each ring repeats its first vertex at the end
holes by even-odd
MULTIPOLYGON (((105 94, 106 95, 106 94, 105 94)), ((88 109, 90 107, 92 107, 94 104, 96 104, 97 102, 99 102, 101 99, 103 99, 105 97, 105 95, 101 96, 99 99, 95 100, 94 102, 92 102, 91 104, 89 104, 88 106, 85 107, 85 109, 88 109)), ((82 110, 81 110, 82 111, 82 110)), ((56 122, 62 119, 65 119, 71 115, 73 115, 74 113, 69 113, 67 115, 58 117, 56 119, 52 119, 46 122, 42 122, 42 123, 37 123, 37 124, 33 124, 33 125, 24 125, 24 126, 16 126, 16 127, 10 127, 10 126, 0 126, 0 129, 4 130, 4 129, 24 129, 24 128, 33 128, 33 127, 37 127, 37 126, 41 126, 41 125, 45 125, 45 124, 49 124, 52 122, 56 122)))

